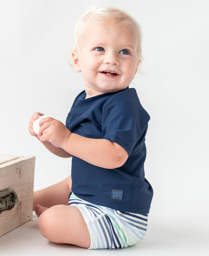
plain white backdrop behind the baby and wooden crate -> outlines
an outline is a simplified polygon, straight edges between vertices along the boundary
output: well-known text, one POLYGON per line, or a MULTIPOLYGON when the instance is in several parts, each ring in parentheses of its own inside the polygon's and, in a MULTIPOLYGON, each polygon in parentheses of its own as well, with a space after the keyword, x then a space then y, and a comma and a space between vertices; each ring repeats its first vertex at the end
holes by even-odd
MULTIPOLYGON (((105 1, 126 9, 142 27, 144 74, 131 86, 151 116, 145 170, 154 189, 153 218, 208 215, 207 2, 105 1)), ((70 175, 71 160, 47 152, 28 123, 35 111, 65 123, 83 90, 66 52, 90 4, 98 0, 0 1, 0 153, 36 156, 35 190, 70 175)))

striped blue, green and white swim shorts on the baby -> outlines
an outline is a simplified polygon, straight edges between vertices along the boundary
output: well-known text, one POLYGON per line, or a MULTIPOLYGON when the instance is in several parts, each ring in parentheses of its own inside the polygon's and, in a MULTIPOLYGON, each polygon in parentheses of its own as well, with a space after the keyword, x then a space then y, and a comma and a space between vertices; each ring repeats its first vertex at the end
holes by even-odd
POLYGON ((88 203, 73 193, 69 205, 78 207, 90 233, 88 249, 115 249, 139 243, 147 231, 148 214, 120 212, 88 203))

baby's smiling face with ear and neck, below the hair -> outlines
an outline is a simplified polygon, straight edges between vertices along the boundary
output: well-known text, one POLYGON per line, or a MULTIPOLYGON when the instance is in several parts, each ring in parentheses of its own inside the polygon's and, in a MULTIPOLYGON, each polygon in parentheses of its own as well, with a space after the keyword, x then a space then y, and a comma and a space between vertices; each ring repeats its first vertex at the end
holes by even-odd
POLYGON ((85 29, 80 52, 74 56, 83 72, 87 97, 125 89, 137 67, 137 37, 114 21, 94 23, 85 29))

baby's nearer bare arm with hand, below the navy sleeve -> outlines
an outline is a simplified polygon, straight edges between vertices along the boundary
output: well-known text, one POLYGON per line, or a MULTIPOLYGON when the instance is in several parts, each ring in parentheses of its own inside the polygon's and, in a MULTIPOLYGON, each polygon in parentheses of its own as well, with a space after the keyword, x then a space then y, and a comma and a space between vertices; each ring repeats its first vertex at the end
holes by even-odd
POLYGON ((115 142, 106 139, 90 139, 71 133, 60 121, 52 117, 40 120, 39 140, 50 142, 53 146, 63 149, 96 166, 113 169, 122 166, 127 158, 127 151, 115 142))

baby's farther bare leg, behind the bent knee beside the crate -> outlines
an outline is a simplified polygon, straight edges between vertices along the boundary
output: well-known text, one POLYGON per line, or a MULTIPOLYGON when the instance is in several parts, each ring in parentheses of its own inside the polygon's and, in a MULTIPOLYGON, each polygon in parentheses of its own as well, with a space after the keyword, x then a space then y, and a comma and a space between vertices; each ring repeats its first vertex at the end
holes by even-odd
POLYGON ((65 180, 48 188, 35 191, 33 193, 33 207, 36 204, 47 208, 58 204, 68 205, 71 185, 71 176, 69 176, 65 180))

